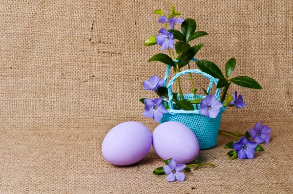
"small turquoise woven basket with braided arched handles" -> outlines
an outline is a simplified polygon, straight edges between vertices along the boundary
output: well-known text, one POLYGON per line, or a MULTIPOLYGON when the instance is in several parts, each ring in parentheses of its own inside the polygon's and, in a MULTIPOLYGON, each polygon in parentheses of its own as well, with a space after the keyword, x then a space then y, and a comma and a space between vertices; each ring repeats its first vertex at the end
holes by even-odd
MULTIPOLYGON (((193 59, 193 61, 197 61, 196 59, 193 59)), ((178 61, 175 61, 178 62, 178 61)), ((167 85, 167 77, 169 75, 169 70, 171 66, 168 65, 167 71, 165 74, 165 83, 164 86, 167 85)), ((184 74, 189 74, 189 73, 196 73, 196 74, 201 74, 204 77, 210 79, 209 82, 209 87, 207 89, 208 93, 213 85, 213 83, 216 85, 218 83, 218 80, 212 76, 210 76, 207 73, 202 72, 199 69, 188 69, 184 70, 180 73, 177 73, 174 77, 172 77, 169 81, 169 84, 167 85, 168 88, 168 96, 169 96, 169 102, 168 105, 170 109, 168 109, 168 112, 163 115, 162 119, 160 120, 160 124, 167 122, 167 121, 176 121, 183 123, 184 125, 188 126, 196 135, 198 141, 199 141, 199 146, 200 149, 207 149, 207 148, 212 148, 216 146, 217 143, 217 136, 218 136, 218 131, 221 123, 221 118, 222 118, 222 113, 225 111, 226 107, 222 107, 220 109, 220 113, 216 118, 209 118, 204 115, 201 115, 199 113, 199 110, 178 110, 178 109, 173 109, 173 102, 172 102, 172 89, 171 86, 175 82, 175 80, 184 75, 184 74)), ((215 97, 219 100, 220 96, 220 89, 216 90, 215 97)), ((203 98, 206 96, 202 95, 196 95, 197 98, 203 98)), ((179 100, 179 95, 177 96, 179 100)), ((184 94, 185 99, 192 100, 194 99, 194 95, 192 93, 189 94, 184 94)), ((194 105, 195 107, 195 105, 194 105)), ((200 107, 199 107, 200 108, 200 107)))

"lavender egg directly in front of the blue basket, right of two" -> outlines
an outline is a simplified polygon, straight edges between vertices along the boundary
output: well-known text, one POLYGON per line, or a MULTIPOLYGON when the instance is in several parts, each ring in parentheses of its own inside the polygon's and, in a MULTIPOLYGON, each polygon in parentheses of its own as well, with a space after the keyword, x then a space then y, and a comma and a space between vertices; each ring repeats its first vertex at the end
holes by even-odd
POLYGON ((177 164, 191 162, 199 153, 199 143, 192 130, 174 121, 162 123, 154 130, 152 144, 163 160, 173 158, 177 164))

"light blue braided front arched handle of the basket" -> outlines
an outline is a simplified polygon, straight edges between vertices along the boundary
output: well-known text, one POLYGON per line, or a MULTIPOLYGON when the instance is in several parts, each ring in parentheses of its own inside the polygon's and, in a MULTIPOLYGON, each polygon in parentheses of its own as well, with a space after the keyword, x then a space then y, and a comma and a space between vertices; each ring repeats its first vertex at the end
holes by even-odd
MULTIPOLYGON (((169 68, 169 66, 168 66, 168 68, 169 68)), ((169 103, 168 103, 168 105, 169 105, 169 108, 170 108, 170 109, 173 109, 173 102, 172 102, 173 94, 172 94, 171 86, 174 84, 175 80, 176 80, 178 77, 180 77, 180 76, 182 76, 182 75, 184 75, 184 74, 189 74, 189 73, 201 74, 201 75, 203 75, 204 77, 210 79, 209 87, 208 87, 208 90, 207 90, 208 93, 209 93, 209 91, 210 91, 210 89, 211 89, 211 87, 212 87, 212 83, 215 83, 215 85, 217 85, 217 83, 218 83, 218 79, 212 77, 211 75, 209 75, 209 74, 207 74, 207 73, 205 73, 205 72, 202 72, 202 71, 199 70, 199 69, 187 69, 187 70, 181 71, 181 72, 179 72, 179 73, 176 73, 176 75, 170 79, 169 84, 168 84, 168 86, 167 86, 167 89, 168 89, 168 96, 169 96, 169 103)), ((218 89, 216 90, 216 93, 215 93, 215 97, 216 97, 216 99, 218 99, 218 100, 219 100, 219 96, 220 96, 220 91, 221 91, 221 89, 218 88, 218 89)))

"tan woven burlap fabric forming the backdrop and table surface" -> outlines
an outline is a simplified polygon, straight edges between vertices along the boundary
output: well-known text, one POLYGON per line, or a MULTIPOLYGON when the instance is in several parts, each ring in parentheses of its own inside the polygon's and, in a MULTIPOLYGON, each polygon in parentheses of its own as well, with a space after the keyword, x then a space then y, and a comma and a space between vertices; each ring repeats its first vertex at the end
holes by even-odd
MULTIPOLYGON (((0 194, 293 193, 292 57, 290 0, 0 0, 0 194), (230 160, 223 146, 235 139, 219 135, 217 147, 199 154, 216 167, 169 183, 152 174, 163 165, 153 149, 116 167, 101 145, 121 122, 157 126, 138 99, 155 97, 142 82, 163 77, 166 66, 146 62, 160 47, 144 41, 162 27, 152 12, 166 13, 171 3, 209 33, 194 41, 205 44, 198 59, 224 70, 235 57, 232 76, 251 76, 264 88, 232 86, 247 108, 228 108, 221 129, 244 132, 261 121, 272 138, 255 159, 230 160)), ((182 80, 189 93, 188 76, 182 80)))

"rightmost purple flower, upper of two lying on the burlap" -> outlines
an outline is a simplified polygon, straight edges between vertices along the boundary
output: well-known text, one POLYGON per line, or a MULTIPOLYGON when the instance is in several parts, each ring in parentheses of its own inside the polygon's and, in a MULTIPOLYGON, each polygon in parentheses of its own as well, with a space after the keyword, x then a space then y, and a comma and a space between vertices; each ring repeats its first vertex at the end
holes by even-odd
POLYGON ((252 139, 254 139, 257 143, 269 143, 270 141, 270 132, 272 129, 270 129, 266 125, 262 125, 261 122, 258 122, 253 129, 249 129, 249 134, 252 139))

